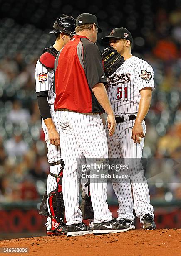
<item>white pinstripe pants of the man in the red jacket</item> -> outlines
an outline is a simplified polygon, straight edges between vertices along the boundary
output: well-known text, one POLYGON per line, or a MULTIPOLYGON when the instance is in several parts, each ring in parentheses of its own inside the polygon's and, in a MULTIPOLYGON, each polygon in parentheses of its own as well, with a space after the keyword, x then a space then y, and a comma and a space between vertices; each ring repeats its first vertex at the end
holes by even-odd
MULTIPOLYGON (((77 113, 57 110, 60 144, 65 164, 62 190, 67 225, 82 222, 79 209, 79 178, 81 158, 106 159, 107 139, 98 113, 77 113)), ((94 209, 94 223, 112 220, 107 205, 107 181, 91 182, 90 192, 94 209)))

